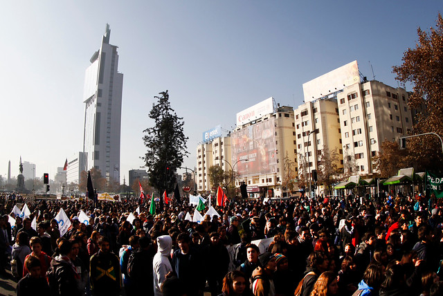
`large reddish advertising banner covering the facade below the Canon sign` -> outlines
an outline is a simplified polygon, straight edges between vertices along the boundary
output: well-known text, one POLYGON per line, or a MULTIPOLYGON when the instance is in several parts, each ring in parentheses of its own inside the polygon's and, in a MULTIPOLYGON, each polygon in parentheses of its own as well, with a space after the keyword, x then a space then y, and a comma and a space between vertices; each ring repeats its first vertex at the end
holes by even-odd
POLYGON ((239 176, 277 172, 275 118, 252 124, 230 135, 232 165, 239 176))

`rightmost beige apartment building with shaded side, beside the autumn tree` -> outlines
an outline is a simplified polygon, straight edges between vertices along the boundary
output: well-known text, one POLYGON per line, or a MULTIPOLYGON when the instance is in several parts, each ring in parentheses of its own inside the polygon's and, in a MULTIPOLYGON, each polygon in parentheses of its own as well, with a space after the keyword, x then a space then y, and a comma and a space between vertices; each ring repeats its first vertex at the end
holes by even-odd
POLYGON ((398 141, 412 129, 408 93, 372 80, 345 87, 337 100, 345 173, 372 177, 381 143, 398 141))

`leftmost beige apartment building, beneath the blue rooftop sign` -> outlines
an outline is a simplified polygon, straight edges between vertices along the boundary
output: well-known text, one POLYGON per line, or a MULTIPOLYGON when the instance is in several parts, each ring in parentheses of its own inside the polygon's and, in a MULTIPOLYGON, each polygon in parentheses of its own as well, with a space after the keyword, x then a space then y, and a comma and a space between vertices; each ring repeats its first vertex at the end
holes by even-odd
POLYGON ((197 191, 208 193, 213 190, 213 185, 209 181, 209 168, 213 165, 219 165, 222 169, 230 170, 231 151, 230 136, 218 137, 201 142, 197 146, 197 170, 195 177, 197 182, 197 191))

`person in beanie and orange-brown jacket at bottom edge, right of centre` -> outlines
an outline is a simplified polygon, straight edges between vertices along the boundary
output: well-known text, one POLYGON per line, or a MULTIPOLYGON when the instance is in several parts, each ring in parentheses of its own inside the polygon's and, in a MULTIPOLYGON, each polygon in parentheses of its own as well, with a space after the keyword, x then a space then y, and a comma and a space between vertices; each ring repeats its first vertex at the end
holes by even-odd
POLYGON ((273 273, 277 268, 275 255, 265 252, 260 255, 259 260, 261 267, 255 268, 252 272, 252 292, 255 296, 274 296, 273 273))

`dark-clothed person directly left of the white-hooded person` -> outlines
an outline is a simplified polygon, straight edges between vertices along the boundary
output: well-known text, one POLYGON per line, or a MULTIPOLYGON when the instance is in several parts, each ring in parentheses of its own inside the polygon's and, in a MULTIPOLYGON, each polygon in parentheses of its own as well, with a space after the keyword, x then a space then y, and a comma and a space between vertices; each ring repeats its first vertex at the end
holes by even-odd
MULTIPOLYGON (((155 246, 151 245, 149 237, 138 239, 139 248, 132 250, 127 262, 126 274, 132 283, 132 291, 143 295, 154 295, 154 275, 152 274, 152 260, 156 253, 155 246)), ((134 294, 134 295, 138 295, 134 294)))

